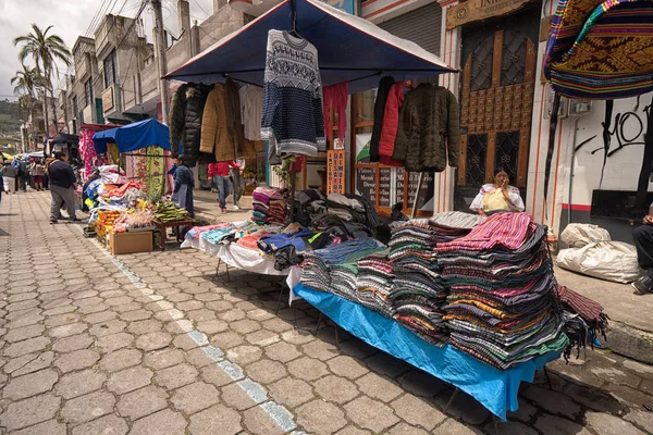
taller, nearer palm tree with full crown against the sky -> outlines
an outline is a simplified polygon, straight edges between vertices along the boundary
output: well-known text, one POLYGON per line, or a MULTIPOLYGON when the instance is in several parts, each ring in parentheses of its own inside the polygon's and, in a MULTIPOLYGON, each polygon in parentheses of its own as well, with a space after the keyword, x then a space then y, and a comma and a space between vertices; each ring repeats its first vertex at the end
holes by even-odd
POLYGON ((54 61, 60 60, 64 65, 71 66, 71 51, 63 42, 63 39, 57 35, 48 35, 53 26, 48 26, 45 30, 41 30, 36 24, 32 25, 32 32, 27 35, 19 36, 13 40, 14 46, 22 45, 21 51, 19 52, 19 59, 24 62, 25 59, 32 57, 36 63, 36 71, 38 75, 41 75, 41 65, 45 78, 45 95, 44 101, 44 113, 46 115, 46 124, 48 124, 48 108, 47 108, 47 95, 50 91, 50 104, 53 115, 54 129, 58 129, 57 124, 57 104, 54 102, 54 87, 52 86, 52 70, 59 77, 59 71, 54 61))

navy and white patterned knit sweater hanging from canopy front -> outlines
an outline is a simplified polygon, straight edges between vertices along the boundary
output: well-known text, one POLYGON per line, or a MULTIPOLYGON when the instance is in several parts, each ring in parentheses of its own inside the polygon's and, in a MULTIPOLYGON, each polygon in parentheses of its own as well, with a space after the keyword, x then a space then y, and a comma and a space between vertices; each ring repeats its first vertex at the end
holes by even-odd
POLYGON ((318 51, 283 30, 268 33, 261 137, 278 156, 325 149, 318 51))

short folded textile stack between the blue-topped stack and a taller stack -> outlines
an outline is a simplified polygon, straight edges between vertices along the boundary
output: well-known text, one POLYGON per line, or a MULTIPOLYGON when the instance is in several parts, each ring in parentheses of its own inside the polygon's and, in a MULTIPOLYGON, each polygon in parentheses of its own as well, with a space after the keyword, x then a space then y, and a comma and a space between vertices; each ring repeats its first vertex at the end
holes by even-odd
POLYGON ((360 304, 392 318, 394 309, 390 291, 394 279, 392 262, 386 257, 370 256, 357 263, 356 297, 360 304))

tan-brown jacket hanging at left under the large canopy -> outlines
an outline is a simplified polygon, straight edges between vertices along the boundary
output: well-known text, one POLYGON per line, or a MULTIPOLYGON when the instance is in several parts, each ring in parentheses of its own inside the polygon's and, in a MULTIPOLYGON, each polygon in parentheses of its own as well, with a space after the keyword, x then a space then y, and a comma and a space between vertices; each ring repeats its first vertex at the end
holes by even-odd
MULTIPOLYGON (((239 110, 238 107, 238 113, 239 110)), ((217 84, 207 98, 199 150, 214 153, 218 162, 237 159, 237 136, 233 112, 227 101, 226 86, 223 84, 217 84)))

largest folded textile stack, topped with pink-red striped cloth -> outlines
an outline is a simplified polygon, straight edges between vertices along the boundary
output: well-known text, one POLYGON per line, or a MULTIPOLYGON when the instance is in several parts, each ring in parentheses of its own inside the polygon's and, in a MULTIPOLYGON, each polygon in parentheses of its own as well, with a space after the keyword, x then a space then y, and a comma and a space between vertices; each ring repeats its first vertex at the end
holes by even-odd
POLYGON ((498 213, 438 245, 452 345, 500 370, 567 346, 545 237, 527 213, 498 213))

